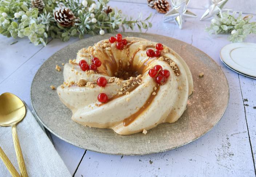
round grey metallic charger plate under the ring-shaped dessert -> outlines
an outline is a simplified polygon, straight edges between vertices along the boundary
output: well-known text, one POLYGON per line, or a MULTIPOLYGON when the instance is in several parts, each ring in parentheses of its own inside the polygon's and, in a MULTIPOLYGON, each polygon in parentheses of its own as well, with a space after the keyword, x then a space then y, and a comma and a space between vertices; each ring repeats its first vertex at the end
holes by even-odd
MULTIPOLYGON (((63 71, 56 64, 76 58, 83 47, 108 39, 105 34, 77 41, 53 54, 37 71, 31 85, 31 104, 39 121, 54 135, 75 146, 115 155, 145 155, 164 152, 188 144, 207 133, 223 116, 229 100, 227 79, 220 67, 199 49, 177 39, 145 33, 123 33, 171 47, 188 64, 193 76, 194 92, 187 110, 175 123, 163 123, 146 135, 118 135, 111 129, 84 127, 71 120, 72 112, 62 104, 50 85, 63 83, 63 71), (204 72, 203 77, 199 73, 204 72)), ((171 98, 170 98, 171 99, 171 98)), ((113 110, 115 111, 115 110, 113 110)))

